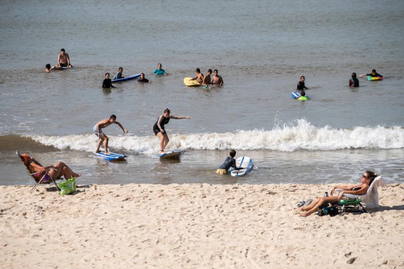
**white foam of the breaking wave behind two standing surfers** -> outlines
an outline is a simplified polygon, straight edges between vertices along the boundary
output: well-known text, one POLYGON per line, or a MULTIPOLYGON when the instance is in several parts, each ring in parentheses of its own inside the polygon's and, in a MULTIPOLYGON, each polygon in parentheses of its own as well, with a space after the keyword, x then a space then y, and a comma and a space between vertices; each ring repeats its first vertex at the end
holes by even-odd
MULTIPOLYGON (((334 129, 329 126, 317 128, 304 119, 297 124, 285 124, 270 131, 239 130, 234 133, 212 134, 170 134, 170 149, 238 149, 276 150, 292 152, 296 150, 339 150, 348 148, 397 149, 404 147, 404 129, 399 126, 385 128, 354 127, 334 129)), ((44 145, 58 149, 94 151, 97 138, 94 135, 29 136, 44 145)), ((112 149, 124 149, 135 153, 155 153, 159 140, 150 136, 110 136, 112 149)))

